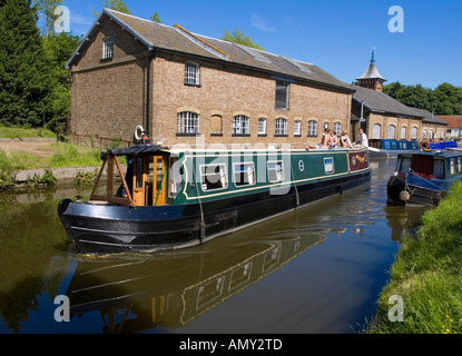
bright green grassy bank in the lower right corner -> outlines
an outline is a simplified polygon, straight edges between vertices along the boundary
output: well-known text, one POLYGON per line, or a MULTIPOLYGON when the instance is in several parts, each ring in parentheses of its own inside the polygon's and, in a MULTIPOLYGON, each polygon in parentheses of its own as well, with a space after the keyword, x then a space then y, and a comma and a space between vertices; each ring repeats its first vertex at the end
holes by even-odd
POLYGON ((403 243, 367 333, 462 333, 462 182, 451 192, 403 243), (390 320, 399 315, 392 296, 402 298, 402 322, 390 320))

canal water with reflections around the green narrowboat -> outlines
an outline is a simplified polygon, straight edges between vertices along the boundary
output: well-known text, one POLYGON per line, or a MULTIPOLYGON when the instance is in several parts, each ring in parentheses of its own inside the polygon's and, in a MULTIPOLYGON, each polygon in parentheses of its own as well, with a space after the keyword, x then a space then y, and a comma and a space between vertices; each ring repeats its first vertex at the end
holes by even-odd
POLYGON ((76 254, 57 205, 90 187, 1 192, 0 333, 361 333, 423 212, 387 206, 395 160, 372 165, 342 196, 149 256, 76 254))

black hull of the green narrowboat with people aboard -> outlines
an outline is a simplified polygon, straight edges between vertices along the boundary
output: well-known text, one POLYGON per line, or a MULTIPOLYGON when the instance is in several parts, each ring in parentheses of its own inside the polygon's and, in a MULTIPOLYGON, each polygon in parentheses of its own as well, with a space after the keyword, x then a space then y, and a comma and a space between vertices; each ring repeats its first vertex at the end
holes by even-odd
POLYGON ((194 246, 371 180, 371 170, 206 202, 127 207, 63 199, 58 214, 82 254, 153 253, 194 246))

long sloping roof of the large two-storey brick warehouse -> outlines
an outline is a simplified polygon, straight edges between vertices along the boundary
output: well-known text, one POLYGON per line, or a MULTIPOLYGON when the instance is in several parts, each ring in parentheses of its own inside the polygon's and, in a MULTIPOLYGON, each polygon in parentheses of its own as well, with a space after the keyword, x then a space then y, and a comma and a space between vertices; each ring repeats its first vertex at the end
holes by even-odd
MULTIPOLYGON (((180 52, 225 61, 245 66, 254 70, 269 72, 273 76, 288 77, 287 79, 303 80, 335 90, 353 92, 348 85, 315 65, 191 33, 177 24, 170 27, 110 9, 104 9, 101 11, 86 38, 91 38, 94 31, 98 30, 97 28, 104 20, 104 17, 109 17, 119 23, 121 28, 129 31, 137 40, 146 44, 148 50, 180 52)), ((80 43, 79 48, 69 59, 67 63, 68 68, 78 61, 78 57, 82 52, 83 47, 89 46, 87 42, 89 41, 83 40, 80 43)))

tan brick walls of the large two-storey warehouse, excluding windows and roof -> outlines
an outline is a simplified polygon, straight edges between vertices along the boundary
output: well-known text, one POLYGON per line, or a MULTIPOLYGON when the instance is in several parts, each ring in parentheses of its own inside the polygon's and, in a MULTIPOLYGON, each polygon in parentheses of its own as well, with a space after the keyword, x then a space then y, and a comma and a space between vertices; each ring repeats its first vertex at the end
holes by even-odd
POLYGON ((289 144, 305 148, 317 144, 323 122, 342 129, 350 126, 352 96, 304 83, 291 83, 288 109, 275 109, 276 81, 269 73, 233 67, 229 63, 191 59, 180 55, 156 53, 150 61, 147 48, 114 21, 106 20, 100 31, 72 68, 73 141, 96 145, 121 140, 129 145, 135 127, 144 125, 147 103, 147 75, 150 72, 150 131, 165 145, 196 144, 195 136, 177 135, 177 115, 193 111, 200 117, 205 144, 289 144), (115 37, 112 60, 101 60, 102 41, 115 37), (200 66, 200 86, 185 86, 185 62, 200 66), (148 66, 150 62, 150 71, 148 66), (249 117, 250 135, 233 136, 233 117, 249 117), (258 136, 258 118, 266 118, 267 135, 258 136), (287 137, 275 137, 277 118, 287 120, 287 137), (295 137, 295 121, 302 122, 295 137), (308 120, 318 122, 317 137, 307 137, 308 120), (218 135, 217 135, 218 134, 218 135))

